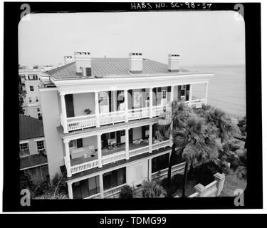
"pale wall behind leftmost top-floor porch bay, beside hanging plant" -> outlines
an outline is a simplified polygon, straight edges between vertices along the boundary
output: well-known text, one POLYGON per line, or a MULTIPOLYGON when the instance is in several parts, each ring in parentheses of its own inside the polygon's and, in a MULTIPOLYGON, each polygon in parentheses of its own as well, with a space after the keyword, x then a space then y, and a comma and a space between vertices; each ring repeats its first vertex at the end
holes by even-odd
POLYGON ((85 109, 91 110, 90 115, 95 114, 95 95, 94 93, 73 94, 74 115, 86 115, 85 109))

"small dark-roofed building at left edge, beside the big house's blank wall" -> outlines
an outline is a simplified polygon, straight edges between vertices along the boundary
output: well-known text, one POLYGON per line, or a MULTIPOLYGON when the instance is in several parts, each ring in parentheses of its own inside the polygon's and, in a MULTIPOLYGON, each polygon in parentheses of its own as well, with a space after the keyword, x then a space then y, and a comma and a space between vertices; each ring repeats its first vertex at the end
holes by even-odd
POLYGON ((36 183, 49 179, 46 143, 41 120, 19 114, 19 157, 21 175, 36 183))

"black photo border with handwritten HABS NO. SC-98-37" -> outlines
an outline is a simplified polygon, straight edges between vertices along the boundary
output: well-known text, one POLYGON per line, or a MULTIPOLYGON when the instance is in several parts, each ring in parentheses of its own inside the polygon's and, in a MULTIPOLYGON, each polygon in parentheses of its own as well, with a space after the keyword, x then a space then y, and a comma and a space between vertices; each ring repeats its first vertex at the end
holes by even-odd
MULTIPOLYGON (((29 4, 31 13, 78 13, 122 11, 196 11, 206 9, 132 9, 131 3, 4 2, 4 212, 51 212, 91 210, 155 209, 261 209, 262 118, 261 118, 261 4, 212 3, 210 11, 236 11, 244 6, 246 29, 246 117, 248 181, 244 206, 236 207, 234 197, 164 199, 31 199, 30 207, 20 204, 19 190, 19 98, 18 98, 18 25, 21 4, 29 4), (253 88, 253 90, 251 89, 253 88), (12 125, 10 124, 12 123, 12 125)), ((153 3, 151 3, 153 4, 153 3)), ((155 4, 155 3, 154 3, 155 4)), ((165 3, 167 4, 167 3, 165 3)), ((37 37, 36 37, 37 38, 37 37)))

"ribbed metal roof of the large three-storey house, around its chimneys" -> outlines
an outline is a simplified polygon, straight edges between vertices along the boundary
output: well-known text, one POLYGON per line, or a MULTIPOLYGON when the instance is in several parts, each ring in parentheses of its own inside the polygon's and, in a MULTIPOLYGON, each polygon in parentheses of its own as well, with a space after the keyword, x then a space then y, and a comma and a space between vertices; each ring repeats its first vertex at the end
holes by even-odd
MULTIPOLYGON (((132 73, 129 71, 129 58, 91 58, 91 69, 92 76, 96 78, 108 76, 132 76, 132 73)), ((180 68, 179 72, 186 73, 189 71, 180 68)), ((53 76, 56 80, 80 78, 80 76, 76 76, 75 73, 75 62, 68 63, 46 73, 53 76)), ((151 75, 159 73, 169 73, 167 64, 143 58, 142 74, 151 75)))

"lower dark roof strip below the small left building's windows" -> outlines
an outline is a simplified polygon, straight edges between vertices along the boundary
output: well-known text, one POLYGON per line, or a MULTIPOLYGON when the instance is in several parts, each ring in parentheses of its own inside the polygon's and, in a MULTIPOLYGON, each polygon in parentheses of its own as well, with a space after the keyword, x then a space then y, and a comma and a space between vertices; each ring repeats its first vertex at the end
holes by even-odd
POLYGON ((43 154, 29 155, 26 157, 21 157, 20 169, 26 169, 28 167, 34 167, 39 165, 46 165, 47 157, 43 154))

